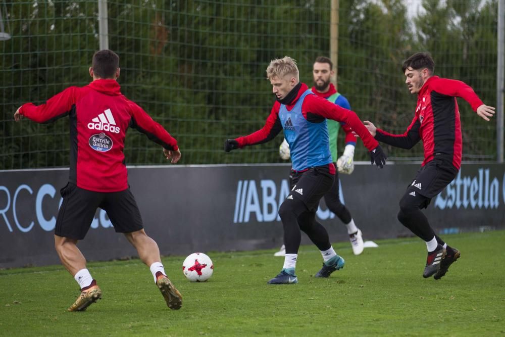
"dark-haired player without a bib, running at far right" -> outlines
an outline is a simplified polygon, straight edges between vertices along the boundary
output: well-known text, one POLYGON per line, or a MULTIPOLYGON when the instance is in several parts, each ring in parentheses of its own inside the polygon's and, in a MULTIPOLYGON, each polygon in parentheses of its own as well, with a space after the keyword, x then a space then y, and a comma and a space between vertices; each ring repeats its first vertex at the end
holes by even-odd
POLYGON ((423 277, 440 279, 460 257, 456 248, 435 234, 421 212, 458 174, 462 157, 460 112, 456 97, 467 101, 477 115, 489 121, 494 108, 484 105, 467 84, 433 75, 435 63, 429 53, 417 53, 403 62, 411 93, 417 93, 417 106, 412 123, 403 134, 391 134, 365 121, 375 139, 386 144, 411 149, 423 141, 424 161, 414 180, 400 200, 398 220, 426 242, 428 258, 423 277))

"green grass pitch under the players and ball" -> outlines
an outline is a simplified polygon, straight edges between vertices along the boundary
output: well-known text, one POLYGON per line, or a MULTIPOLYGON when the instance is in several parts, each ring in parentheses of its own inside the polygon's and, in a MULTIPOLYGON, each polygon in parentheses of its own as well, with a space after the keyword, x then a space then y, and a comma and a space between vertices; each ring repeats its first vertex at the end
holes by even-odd
POLYGON ((361 256, 337 243, 346 264, 328 279, 312 277, 322 258, 303 246, 292 285, 266 283, 283 263, 273 250, 210 252, 205 283, 185 279, 184 257, 165 257, 184 297, 178 311, 139 260, 89 263, 103 299, 77 313, 66 311, 79 291, 63 267, 0 270, 0 335, 504 335, 505 231, 444 237, 462 256, 438 281, 422 277, 426 246, 416 238, 379 240, 361 256))

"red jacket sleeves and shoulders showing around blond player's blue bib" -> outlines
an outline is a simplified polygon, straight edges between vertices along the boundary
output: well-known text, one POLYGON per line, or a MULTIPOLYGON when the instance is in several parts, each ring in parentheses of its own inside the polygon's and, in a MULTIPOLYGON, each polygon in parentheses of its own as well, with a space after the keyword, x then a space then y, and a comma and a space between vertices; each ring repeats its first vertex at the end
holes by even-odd
MULTIPOLYGON (((290 111, 294 107, 301 94, 308 88, 307 84, 301 83, 296 98, 286 105, 287 110, 290 111)), ((280 106, 281 104, 279 102, 276 101, 274 103, 265 126, 262 129, 247 136, 235 139, 240 148, 247 145, 265 143, 273 139, 282 130, 282 125, 279 119, 280 106)), ((356 113, 333 104, 324 98, 317 97, 317 95, 307 95, 301 106, 301 113, 306 120, 314 123, 320 123, 325 118, 345 123, 361 137, 365 147, 369 151, 372 151, 379 145, 377 140, 372 137, 368 129, 363 125, 356 113)))

